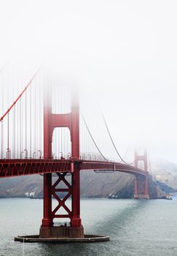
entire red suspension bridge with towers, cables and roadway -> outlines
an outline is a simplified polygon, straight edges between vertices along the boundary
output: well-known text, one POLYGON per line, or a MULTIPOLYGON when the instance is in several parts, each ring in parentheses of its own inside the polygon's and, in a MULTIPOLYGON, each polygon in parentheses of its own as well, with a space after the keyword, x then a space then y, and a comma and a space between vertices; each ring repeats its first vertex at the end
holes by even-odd
MULTIPOLYGON (((1 69, 0 75, 3 72, 1 69)), ((87 111, 79 106, 76 90, 58 84, 55 79, 44 78, 41 68, 18 90, 12 85, 8 88, 5 79, 1 79, 0 178, 44 176, 42 226, 37 238, 30 240, 28 237, 25 241, 86 238, 80 216, 81 170, 129 173, 135 177, 134 198, 149 199, 146 151, 143 155, 135 152, 134 161, 127 164, 102 116, 121 162, 106 157, 95 138, 94 131, 98 129, 96 111, 91 113, 93 119, 88 118, 87 111), (140 161, 144 164, 143 169, 138 167, 140 161), (52 198, 58 202, 55 207, 52 198), (68 207, 66 202, 70 199, 71 207, 68 207), (69 222, 56 225, 55 219, 69 219, 69 222)), ((106 147, 103 135, 101 140, 102 148, 106 147)), ((20 237, 15 239, 22 241, 20 237)))

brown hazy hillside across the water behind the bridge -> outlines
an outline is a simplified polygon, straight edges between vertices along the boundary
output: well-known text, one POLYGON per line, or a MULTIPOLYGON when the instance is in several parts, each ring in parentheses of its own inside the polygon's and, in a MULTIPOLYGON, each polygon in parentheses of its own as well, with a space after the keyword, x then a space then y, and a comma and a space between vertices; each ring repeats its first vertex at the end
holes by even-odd
MULTIPOLYGON (((163 167, 164 169, 165 167, 163 167)), ((0 180, 0 197, 24 197, 25 193, 35 192, 35 197, 42 198, 42 180, 43 177, 40 175, 2 178, 0 180)), ((161 190, 160 184, 155 186, 153 182, 150 183, 150 187, 150 196, 153 198, 165 195, 162 190, 168 192, 167 187, 161 185, 163 187, 161 190)), ((95 173, 90 170, 81 172, 81 197, 109 197, 110 194, 117 198, 133 197, 133 176, 118 172, 95 173)))

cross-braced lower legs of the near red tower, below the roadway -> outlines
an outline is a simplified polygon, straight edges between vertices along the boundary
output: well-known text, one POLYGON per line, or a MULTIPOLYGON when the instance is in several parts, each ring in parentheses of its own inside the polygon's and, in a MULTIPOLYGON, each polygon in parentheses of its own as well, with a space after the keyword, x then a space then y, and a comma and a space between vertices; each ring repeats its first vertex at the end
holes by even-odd
POLYGON ((84 227, 82 227, 80 218, 79 169, 71 173, 68 178, 66 178, 66 173, 57 173, 57 175, 57 180, 54 177, 54 184, 52 184, 52 179, 44 178, 44 183, 47 179, 48 187, 44 188, 44 218, 39 238, 84 238, 84 227), (55 198, 53 202, 52 197, 55 198), (71 208, 68 204, 66 205, 69 197, 71 200, 68 203, 71 203, 71 208), (58 204, 52 208, 52 203, 55 202, 58 204), (62 220, 63 218, 70 219, 70 222, 54 224, 54 219, 62 220))

